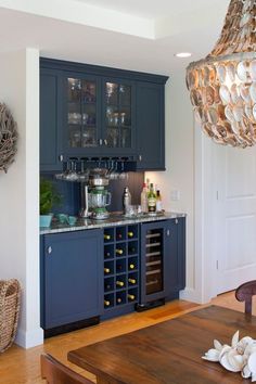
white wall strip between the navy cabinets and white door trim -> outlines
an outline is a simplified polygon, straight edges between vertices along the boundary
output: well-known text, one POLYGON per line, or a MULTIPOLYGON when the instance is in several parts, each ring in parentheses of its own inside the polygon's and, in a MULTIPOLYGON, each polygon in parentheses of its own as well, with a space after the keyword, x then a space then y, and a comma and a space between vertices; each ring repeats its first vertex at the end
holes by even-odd
POLYGON ((194 124, 185 71, 170 77, 166 85, 166 171, 146 172, 155 182, 167 212, 182 212, 187 216, 187 291, 183 297, 200 300, 195 292, 194 253, 194 124), (171 191, 180 192, 180 200, 171 201, 171 191))

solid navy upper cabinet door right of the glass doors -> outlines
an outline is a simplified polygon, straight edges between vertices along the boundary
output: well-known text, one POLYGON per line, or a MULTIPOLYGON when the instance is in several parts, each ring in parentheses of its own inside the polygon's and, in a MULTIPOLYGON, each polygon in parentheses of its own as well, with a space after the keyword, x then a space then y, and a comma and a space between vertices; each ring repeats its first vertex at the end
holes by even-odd
POLYGON ((137 84, 137 168, 165 169, 165 88, 137 84))

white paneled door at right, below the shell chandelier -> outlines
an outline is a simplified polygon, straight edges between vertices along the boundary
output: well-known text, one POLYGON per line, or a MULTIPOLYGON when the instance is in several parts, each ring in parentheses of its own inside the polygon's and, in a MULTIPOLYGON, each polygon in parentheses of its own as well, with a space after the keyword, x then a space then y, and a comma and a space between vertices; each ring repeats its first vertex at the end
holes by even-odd
POLYGON ((256 148, 214 145, 217 294, 256 280, 256 148))

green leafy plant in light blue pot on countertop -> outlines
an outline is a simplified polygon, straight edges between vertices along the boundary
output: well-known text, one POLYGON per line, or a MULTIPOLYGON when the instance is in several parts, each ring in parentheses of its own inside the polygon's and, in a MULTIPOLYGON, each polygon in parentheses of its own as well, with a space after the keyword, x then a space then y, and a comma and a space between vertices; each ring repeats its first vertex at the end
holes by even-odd
POLYGON ((60 204, 61 196, 50 179, 40 179, 40 227, 50 227, 52 207, 60 204))

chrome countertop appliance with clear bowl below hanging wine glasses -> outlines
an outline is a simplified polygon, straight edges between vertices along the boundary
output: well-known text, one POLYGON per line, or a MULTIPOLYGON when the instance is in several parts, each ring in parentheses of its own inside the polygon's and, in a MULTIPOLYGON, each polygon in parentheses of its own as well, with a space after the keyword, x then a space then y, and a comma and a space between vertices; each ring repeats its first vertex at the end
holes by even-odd
POLYGON ((81 217, 104 220, 110 217, 106 207, 111 204, 111 193, 105 189, 108 185, 107 169, 95 168, 89 172, 88 184, 84 184, 81 217))

